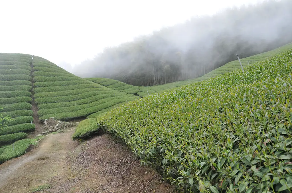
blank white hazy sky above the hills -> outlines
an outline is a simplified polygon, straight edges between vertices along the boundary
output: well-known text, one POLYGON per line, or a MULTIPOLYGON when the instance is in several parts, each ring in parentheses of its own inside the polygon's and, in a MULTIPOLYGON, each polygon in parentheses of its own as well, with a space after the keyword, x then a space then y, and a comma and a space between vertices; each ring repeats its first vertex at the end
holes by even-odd
POLYGON ((0 52, 27 53, 72 66, 103 48, 192 16, 263 0, 1 1, 0 52))

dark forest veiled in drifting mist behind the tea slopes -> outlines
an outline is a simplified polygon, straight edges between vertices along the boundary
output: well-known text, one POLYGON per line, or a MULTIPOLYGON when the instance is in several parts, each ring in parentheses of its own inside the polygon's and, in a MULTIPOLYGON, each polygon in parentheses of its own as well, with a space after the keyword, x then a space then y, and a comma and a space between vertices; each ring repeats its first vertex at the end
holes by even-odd
POLYGON ((137 86, 196 78, 236 60, 236 53, 245 58, 292 42, 291 18, 291 0, 194 17, 106 48, 93 60, 77 65, 73 73, 137 86))

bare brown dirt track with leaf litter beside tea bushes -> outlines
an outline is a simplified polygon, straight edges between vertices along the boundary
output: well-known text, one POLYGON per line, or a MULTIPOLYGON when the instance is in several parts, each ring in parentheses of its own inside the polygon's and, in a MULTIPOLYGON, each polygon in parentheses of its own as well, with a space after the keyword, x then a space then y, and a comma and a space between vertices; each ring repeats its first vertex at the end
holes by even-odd
POLYGON ((0 192, 174 192, 110 135, 79 144, 71 139, 74 130, 47 135, 27 154, 0 165, 0 192))

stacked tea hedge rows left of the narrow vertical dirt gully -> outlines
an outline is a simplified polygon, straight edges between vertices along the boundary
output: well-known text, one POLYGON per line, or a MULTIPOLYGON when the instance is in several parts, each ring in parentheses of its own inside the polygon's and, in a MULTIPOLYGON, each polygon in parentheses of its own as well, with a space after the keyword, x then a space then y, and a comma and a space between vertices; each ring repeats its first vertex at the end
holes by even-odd
POLYGON ((0 163, 25 153, 30 144, 27 132, 34 131, 31 63, 28 54, 0 53, 0 115, 12 120, 0 127, 0 163), (12 151, 11 143, 14 144, 12 151))

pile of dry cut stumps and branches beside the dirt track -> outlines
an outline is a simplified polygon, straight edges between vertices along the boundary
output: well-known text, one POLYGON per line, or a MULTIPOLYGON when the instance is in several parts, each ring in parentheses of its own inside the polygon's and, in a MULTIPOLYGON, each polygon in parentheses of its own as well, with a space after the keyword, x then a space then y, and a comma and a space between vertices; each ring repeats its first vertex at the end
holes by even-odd
POLYGON ((77 126, 77 124, 65 121, 58 121, 54 119, 54 117, 50 117, 49 119, 46 119, 44 121, 44 131, 42 132, 42 134, 60 131, 62 129, 72 126, 77 126))

